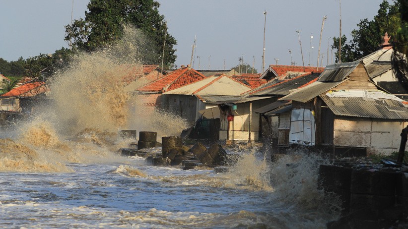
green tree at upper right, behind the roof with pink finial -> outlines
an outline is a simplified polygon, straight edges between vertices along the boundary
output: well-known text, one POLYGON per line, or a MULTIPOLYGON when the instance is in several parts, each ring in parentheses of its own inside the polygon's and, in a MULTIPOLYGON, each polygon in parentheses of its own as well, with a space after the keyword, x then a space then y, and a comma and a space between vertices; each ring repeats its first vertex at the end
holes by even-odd
MULTIPOLYGON (((360 20, 358 29, 351 31, 351 40, 346 43, 344 35, 341 37, 341 62, 349 62, 367 56, 379 49, 384 42, 383 36, 387 32, 391 39, 397 36, 401 27, 400 4, 390 4, 383 0, 378 14, 369 21, 367 18, 360 20)), ((336 62, 339 62, 339 38, 333 38, 332 48, 336 52, 336 62)))

